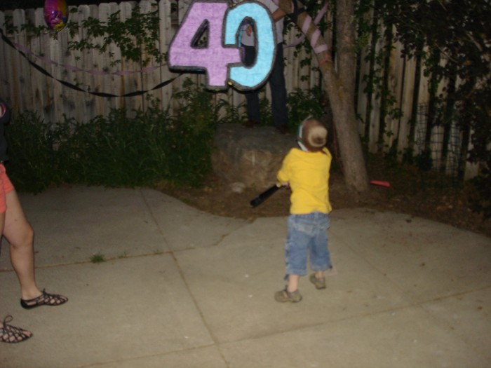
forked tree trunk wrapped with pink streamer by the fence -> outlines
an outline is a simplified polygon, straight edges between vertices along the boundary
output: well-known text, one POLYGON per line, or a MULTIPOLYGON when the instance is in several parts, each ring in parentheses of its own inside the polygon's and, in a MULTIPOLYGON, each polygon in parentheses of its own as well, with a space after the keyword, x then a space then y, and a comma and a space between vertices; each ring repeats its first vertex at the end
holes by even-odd
MULTIPOLYGON (((280 0, 278 6, 283 12, 291 15, 291 4, 291 0, 280 0)), ((303 4, 299 2, 298 6, 302 8, 303 4)), ((368 190, 368 172, 363 158, 354 108, 356 67, 354 0, 338 1, 336 17, 338 70, 335 70, 327 45, 323 37, 319 36, 318 28, 309 15, 301 11, 297 17, 294 15, 293 19, 300 29, 303 29, 306 21, 310 22, 306 35, 316 54, 324 88, 331 103, 344 167, 344 180, 350 189, 363 192, 368 190), (313 39, 316 39, 314 44, 313 39)))

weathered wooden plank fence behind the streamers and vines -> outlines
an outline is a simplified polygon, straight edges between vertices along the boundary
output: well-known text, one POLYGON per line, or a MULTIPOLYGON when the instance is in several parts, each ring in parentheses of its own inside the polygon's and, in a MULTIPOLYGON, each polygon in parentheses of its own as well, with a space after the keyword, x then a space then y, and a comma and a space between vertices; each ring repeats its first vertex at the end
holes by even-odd
MULTIPOLYGON (((142 0, 139 3, 143 12, 159 12, 159 50, 165 53, 169 43, 187 11, 191 1, 159 1, 142 0), (171 7, 173 11, 171 11, 171 7)), ((121 20, 130 18, 134 2, 121 2, 95 5, 82 5, 69 7, 69 22, 81 23, 89 17, 97 18, 107 22, 109 15, 119 12, 121 20)), ((328 13, 326 15, 330 17, 328 13)), ((13 26, 18 29, 27 22, 35 26, 46 25, 43 18, 43 8, 18 9, 15 11, 0 12, 0 27, 11 43, 0 42, 0 95, 11 102, 16 111, 36 111, 46 121, 62 121, 65 116, 74 118, 76 121, 88 121, 98 115, 107 116, 113 108, 125 107, 128 111, 133 109, 145 109, 147 97, 154 97, 161 101, 162 107, 170 106, 171 96, 176 90, 182 88, 184 79, 191 78, 195 83, 203 83, 202 74, 184 74, 179 76, 166 67, 165 62, 161 65, 153 63, 156 68, 143 69, 136 62, 128 62, 121 58, 118 48, 110 46, 107 53, 100 54, 96 50, 69 51, 69 41, 79 41, 84 34, 84 29, 79 30, 73 38, 69 37, 67 29, 59 32, 56 37, 45 33, 41 36, 29 34, 29 32, 14 32, 6 34, 6 17, 12 17, 13 26), (15 48, 13 48, 14 46, 15 48), (20 53, 22 51, 22 53, 20 53), (112 54, 112 55, 111 55, 112 54), (114 60, 122 60, 121 64, 112 66, 114 60), (30 61, 30 62, 29 62, 30 61), (33 66, 33 63, 37 67, 33 66), (43 74, 39 69, 45 69, 48 74, 43 74), (162 88, 155 88, 163 81, 174 79, 162 88), (67 86, 74 85, 81 90, 67 86), (135 91, 148 91, 133 97, 121 97, 135 91), (93 93, 108 93, 116 97, 100 97, 93 93)), ((289 45, 297 39, 298 29, 290 29, 285 35, 285 44, 289 45)), ((328 39, 329 36, 327 35, 328 39)), ((98 40, 102 42, 102 39, 98 40)), ((383 41, 377 42, 377 48, 382 47, 383 41)), ((285 48, 285 76, 288 93, 297 88, 309 90, 320 83, 320 76, 316 67, 316 60, 312 61, 311 67, 302 66, 301 62, 306 55, 304 50, 285 48)), ((361 55, 359 74, 361 76, 370 72, 370 63, 365 62, 361 55)), ((403 111, 401 118, 382 119, 384 126, 381 128, 380 101, 375 95, 363 93, 365 82, 359 79, 358 101, 356 109, 361 121, 359 131, 368 141, 370 151, 377 151, 383 146, 386 150, 396 142, 399 154, 414 144, 415 154, 424 149, 426 137, 426 115, 424 107, 429 102, 428 81, 419 70, 416 75, 415 60, 406 60, 401 57, 401 45, 394 45, 390 55, 388 86, 394 95, 396 102, 394 107, 403 111), (419 82, 418 82, 419 81, 419 82), (415 88, 417 101, 414 101, 415 88), (412 107, 421 107, 414 111, 412 107), (415 116, 418 114, 417 123, 414 127, 415 116), (411 122, 413 128, 411 129, 411 122), (389 134, 387 134, 389 133, 389 134), (397 140, 395 140, 397 139, 397 140)), ((266 88, 266 96, 270 96, 269 87, 266 88)), ((234 106, 245 102, 243 94, 229 88, 223 93, 215 93, 214 98, 227 100, 234 106)), ((245 111, 244 111, 245 112, 245 111)), ((453 163, 459 163, 462 142, 457 128, 452 128, 452 135, 448 143, 448 154, 442 158, 443 141, 440 128, 431 130, 431 157, 433 166, 443 167, 450 175, 455 175, 453 163)), ((427 146, 427 142, 426 142, 427 146)), ((476 166, 466 166, 466 177, 476 175, 476 166)))

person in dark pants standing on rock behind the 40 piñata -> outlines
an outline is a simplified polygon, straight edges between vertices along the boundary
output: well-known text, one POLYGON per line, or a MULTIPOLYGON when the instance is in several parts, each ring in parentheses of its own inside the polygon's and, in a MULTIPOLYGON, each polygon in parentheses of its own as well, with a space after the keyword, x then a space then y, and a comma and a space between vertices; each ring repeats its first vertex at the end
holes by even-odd
MULTIPOLYGON (((274 4, 272 0, 258 0, 264 4, 273 15, 276 29, 276 57, 268 83, 271 88, 271 112, 274 126, 283 134, 287 132, 288 113, 286 109, 286 85, 283 67, 283 18, 285 13, 274 4)), ((245 24, 241 36, 241 45, 244 48, 244 64, 250 66, 255 62, 257 50, 255 48, 255 34, 253 26, 245 24)), ((257 90, 245 93, 247 102, 248 121, 245 126, 252 128, 261 121, 259 92, 257 90)))

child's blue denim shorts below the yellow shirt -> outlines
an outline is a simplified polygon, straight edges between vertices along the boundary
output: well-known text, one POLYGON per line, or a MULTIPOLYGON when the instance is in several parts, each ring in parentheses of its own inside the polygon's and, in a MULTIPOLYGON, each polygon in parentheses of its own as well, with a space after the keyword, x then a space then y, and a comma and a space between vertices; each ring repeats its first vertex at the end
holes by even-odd
POLYGON ((307 275, 307 257, 312 271, 332 267, 328 250, 329 214, 290 214, 285 242, 286 276, 307 275))

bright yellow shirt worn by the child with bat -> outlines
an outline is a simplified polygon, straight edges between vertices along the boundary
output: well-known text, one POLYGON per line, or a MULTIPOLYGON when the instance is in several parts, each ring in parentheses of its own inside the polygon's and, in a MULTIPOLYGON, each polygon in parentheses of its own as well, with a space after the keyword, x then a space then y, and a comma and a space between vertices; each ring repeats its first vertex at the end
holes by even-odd
POLYGON ((281 184, 290 184, 290 213, 329 213, 329 170, 332 156, 328 149, 304 152, 292 148, 276 175, 281 184))

